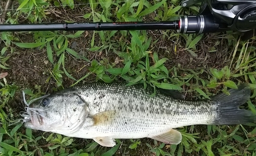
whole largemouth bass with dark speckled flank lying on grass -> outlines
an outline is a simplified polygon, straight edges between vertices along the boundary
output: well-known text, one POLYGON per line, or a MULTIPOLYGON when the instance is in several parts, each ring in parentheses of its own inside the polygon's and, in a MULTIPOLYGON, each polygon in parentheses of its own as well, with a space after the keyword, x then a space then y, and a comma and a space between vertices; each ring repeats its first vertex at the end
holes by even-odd
POLYGON ((183 95, 143 85, 88 83, 44 96, 27 109, 25 126, 68 137, 93 139, 102 146, 115 146, 115 139, 152 138, 179 144, 174 128, 189 125, 231 125, 256 121, 249 110, 240 109, 250 97, 246 84, 211 100, 186 101, 183 95))

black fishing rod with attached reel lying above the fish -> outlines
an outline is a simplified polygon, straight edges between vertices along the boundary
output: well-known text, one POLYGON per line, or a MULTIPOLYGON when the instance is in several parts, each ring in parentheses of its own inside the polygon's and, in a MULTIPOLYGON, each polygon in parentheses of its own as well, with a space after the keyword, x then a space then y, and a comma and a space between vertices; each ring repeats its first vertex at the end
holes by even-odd
POLYGON ((184 0, 182 7, 201 3, 198 15, 179 16, 173 21, 129 21, 114 23, 61 23, 0 25, 0 32, 13 31, 101 31, 101 30, 176 30, 178 33, 240 32, 243 39, 256 29, 256 0, 184 0))

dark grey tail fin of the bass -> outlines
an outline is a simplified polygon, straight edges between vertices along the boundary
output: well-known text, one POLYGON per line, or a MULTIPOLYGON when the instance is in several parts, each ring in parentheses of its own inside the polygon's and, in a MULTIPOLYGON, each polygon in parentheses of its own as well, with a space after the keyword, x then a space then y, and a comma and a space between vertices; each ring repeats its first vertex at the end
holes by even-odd
POLYGON ((211 97, 216 105, 217 118, 214 121, 216 125, 245 124, 256 121, 256 116, 249 110, 240 109, 250 98, 250 88, 247 84, 238 86, 237 90, 229 90, 230 95, 221 93, 211 97))

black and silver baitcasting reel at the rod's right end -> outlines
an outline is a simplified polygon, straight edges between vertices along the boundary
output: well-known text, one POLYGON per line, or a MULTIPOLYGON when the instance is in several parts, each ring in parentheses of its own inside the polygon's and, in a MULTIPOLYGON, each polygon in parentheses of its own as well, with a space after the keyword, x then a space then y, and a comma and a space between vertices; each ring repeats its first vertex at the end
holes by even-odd
MULTIPOLYGON (((206 27, 211 32, 236 31, 243 34, 242 39, 253 37, 256 29, 256 1, 244 0, 184 0, 182 7, 201 3, 199 16, 201 22, 197 22, 200 26, 206 27), (211 27, 208 27, 211 26, 211 27)), ((195 30, 195 22, 189 20, 189 16, 180 17, 180 21, 184 23, 181 33, 188 33, 190 29, 195 30)), ((205 30, 205 32, 208 32, 205 30)))

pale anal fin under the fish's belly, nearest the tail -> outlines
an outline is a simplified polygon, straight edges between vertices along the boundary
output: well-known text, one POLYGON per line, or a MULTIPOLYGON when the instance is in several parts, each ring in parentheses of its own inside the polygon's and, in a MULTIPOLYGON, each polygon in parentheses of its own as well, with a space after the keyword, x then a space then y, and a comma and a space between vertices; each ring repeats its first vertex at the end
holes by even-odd
POLYGON ((151 137, 157 141, 164 142, 166 144, 179 144, 181 142, 182 136, 181 133, 175 129, 172 129, 162 135, 151 137))

